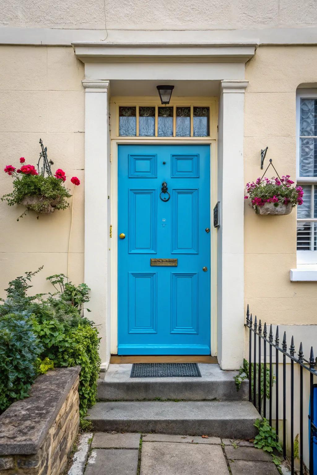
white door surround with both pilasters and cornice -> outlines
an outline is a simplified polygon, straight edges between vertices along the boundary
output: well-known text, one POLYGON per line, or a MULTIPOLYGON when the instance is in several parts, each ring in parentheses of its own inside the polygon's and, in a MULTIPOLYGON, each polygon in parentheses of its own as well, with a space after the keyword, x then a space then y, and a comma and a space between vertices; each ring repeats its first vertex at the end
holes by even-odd
MULTIPOLYGON (((110 209, 115 183, 112 187, 109 84, 112 80, 155 80, 159 84, 185 78, 192 81, 194 87, 194 82, 203 77, 220 84, 216 200, 221 202, 221 225, 217 230, 217 357, 222 369, 239 368, 244 354, 243 122, 244 91, 248 85, 244 80, 244 63, 254 55, 256 44, 77 42, 73 47, 77 57, 85 63, 85 281, 92 288, 91 317, 98 324, 102 337, 103 366, 109 364, 111 349, 115 350, 111 348, 115 340, 110 337, 116 335, 110 316, 114 310, 112 290, 116 281, 111 267, 115 266, 116 257, 114 259, 111 254, 114 238, 109 237, 109 226, 114 227, 114 236, 116 229, 115 221, 110 222, 110 217, 111 220, 115 218, 110 209)), ((111 145, 113 160, 119 142, 111 145)))

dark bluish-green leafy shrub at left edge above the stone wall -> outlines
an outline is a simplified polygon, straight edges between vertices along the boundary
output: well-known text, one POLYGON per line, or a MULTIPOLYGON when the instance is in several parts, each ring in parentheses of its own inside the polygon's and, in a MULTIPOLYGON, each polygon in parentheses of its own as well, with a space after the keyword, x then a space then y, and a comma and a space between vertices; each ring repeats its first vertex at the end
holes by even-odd
POLYGON ((28 313, 0 318, 0 412, 29 395, 42 352, 28 313))

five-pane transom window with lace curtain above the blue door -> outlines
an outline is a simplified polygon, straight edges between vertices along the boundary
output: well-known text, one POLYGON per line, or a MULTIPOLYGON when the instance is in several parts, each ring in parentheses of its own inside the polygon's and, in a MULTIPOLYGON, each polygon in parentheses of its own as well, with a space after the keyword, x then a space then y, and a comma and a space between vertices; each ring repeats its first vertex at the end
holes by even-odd
POLYGON ((120 105, 121 137, 209 137, 209 106, 120 105))

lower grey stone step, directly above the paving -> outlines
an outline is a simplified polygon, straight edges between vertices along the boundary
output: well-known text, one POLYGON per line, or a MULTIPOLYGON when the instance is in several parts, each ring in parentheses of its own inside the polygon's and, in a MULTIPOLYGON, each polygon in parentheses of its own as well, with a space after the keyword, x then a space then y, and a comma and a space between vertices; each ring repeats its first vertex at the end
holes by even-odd
POLYGON ((95 431, 254 438, 258 411, 249 401, 98 402, 87 419, 95 431))

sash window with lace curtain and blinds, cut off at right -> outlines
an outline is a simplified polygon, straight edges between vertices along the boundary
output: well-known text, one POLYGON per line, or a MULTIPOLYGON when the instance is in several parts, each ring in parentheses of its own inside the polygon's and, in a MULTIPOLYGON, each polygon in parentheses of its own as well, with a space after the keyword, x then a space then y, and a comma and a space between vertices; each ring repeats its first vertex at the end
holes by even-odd
POLYGON ((297 104, 297 182, 304 191, 304 203, 297 209, 298 262, 317 264, 317 93, 300 94, 297 104))

